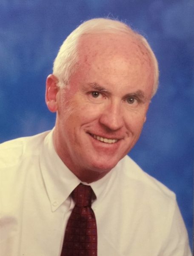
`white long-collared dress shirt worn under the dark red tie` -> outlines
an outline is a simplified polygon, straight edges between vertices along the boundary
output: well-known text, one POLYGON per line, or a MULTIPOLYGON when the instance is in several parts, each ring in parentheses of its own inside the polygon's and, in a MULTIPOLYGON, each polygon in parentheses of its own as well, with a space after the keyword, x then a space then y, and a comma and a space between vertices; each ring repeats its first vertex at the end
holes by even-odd
MULTIPOLYGON (((52 132, 2 143, 0 256, 60 256, 79 183, 52 132)), ((191 256, 174 193, 128 156, 90 186, 98 256, 191 256)))

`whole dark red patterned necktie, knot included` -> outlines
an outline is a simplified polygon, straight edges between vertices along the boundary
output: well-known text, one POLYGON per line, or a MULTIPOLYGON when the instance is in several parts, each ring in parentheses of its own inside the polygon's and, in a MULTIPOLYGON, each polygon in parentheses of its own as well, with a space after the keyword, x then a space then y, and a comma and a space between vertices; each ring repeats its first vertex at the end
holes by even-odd
POLYGON ((61 256, 97 256, 96 218, 91 209, 91 186, 79 184, 71 193, 75 201, 68 219, 61 256))

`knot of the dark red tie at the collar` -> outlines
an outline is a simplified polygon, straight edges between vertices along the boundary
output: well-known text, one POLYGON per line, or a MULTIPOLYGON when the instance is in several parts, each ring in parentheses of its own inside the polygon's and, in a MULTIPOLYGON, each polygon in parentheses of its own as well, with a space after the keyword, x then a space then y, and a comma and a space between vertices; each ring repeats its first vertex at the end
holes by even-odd
POLYGON ((71 193, 71 196, 78 207, 90 207, 92 193, 94 192, 91 186, 83 185, 82 183, 80 183, 71 193))

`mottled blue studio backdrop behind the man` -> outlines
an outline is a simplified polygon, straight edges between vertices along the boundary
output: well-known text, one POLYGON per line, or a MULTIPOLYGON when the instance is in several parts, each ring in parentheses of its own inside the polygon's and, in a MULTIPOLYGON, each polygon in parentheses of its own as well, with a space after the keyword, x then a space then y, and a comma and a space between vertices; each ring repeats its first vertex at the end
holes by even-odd
POLYGON ((130 155, 177 194, 191 242, 193 0, 1 0, 0 142, 53 127, 44 91, 57 51, 82 20, 107 16, 143 33, 159 61, 160 87, 130 155))

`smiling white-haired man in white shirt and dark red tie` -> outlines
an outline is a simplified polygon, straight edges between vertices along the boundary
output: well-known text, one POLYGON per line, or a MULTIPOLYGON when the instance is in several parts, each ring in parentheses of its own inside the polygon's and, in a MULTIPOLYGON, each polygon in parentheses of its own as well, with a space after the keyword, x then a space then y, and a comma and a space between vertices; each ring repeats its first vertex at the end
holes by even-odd
POLYGON ((1 255, 191 255, 174 193, 126 155, 157 84, 154 53, 125 24, 88 20, 68 36, 46 81, 54 129, 0 146, 1 255), (83 215, 71 226, 80 183, 90 237, 83 215))

